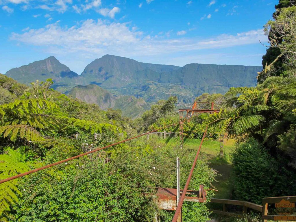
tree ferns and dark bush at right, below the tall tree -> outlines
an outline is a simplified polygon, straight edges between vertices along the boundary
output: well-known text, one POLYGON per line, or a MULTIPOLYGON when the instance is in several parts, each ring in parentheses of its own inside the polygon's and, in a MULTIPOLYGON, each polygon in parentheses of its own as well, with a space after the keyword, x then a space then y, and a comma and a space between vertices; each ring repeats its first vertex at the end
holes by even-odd
POLYGON ((254 88, 231 88, 226 96, 227 109, 204 124, 245 141, 232 154, 236 197, 260 203, 266 193, 294 195, 295 183, 285 183, 296 177, 296 79, 269 77, 254 88))

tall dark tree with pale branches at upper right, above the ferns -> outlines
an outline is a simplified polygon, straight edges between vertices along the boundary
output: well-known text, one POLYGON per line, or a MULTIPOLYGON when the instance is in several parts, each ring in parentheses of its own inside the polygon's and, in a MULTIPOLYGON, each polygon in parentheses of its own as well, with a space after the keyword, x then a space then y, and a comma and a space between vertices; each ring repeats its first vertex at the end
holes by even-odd
POLYGON ((295 77, 295 4, 294 0, 280 0, 275 6, 274 20, 268 21, 265 25, 265 33, 268 35, 271 46, 262 57, 263 71, 258 73, 259 83, 268 76, 295 77))

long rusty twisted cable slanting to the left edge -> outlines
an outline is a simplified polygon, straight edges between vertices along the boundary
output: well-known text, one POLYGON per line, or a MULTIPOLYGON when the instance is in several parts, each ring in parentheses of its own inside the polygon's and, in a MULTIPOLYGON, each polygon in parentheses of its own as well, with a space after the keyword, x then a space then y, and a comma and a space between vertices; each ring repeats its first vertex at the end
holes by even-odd
MULTIPOLYGON (((190 119, 190 118, 189 118, 189 119, 190 119)), ((189 119, 186 119, 186 120, 184 120, 183 122, 185 122, 185 121, 187 121, 187 120, 189 120, 189 119)), ((118 144, 124 143, 124 142, 126 142, 126 141, 130 141, 130 140, 132 140, 132 139, 136 139, 136 138, 141 137, 141 136, 145 136, 145 135, 147 135, 147 134, 149 134, 149 133, 153 133, 153 132, 156 132, 156 131, 158 131, 158 130, 165 129, 165 128, 168 128, 168 127, 170 127, 170 126, 175 126, 175 125, 177 125, 177 124, 179 124, 179 123, 181 123, 181 122, 182 122, 182 121, 180 121, 180 122, 178 122, 178 123, 171 124, 171 125, 169 125, 169 126, 165 126, 165 127, 162 127, 162 128, 159 128, 159 129, 156 129, 156 130, 153 130, 153 131, 150 131, 150 132, 148 132, 148 133, 143 133, 143 134, 141 134, 141 135, 134 136, 134 137, 131 137, 131 138, 128 138, 128 139, 125 139, 125 140, 122 140, 122 141, 119 141, 119 142, 116 142, 116 143, 110 144, 110 145, 105 146, 105 147, 101 147, 101 148, 98 148, 98 149, 94 149, 94 150, 92 150, 92 151, 89 151, 89 152, 86 152, 86 153, 82 153, 82 154, 80 154, 80 155, 77 155, 77 156, 74 156, 74 157, 70 157, 70 158, 68 158, 68 159, 58 161, 58 162, 56 162, 56 163, 52 163, 52 164, 49 164, 49 165, 46 165, 46 166, 43 166, 43 167, 39 167, 39 168, 36 168, 36 169, 34 169, 34 170, 30 170, 30 171, 28 171, 28 172, 25 172, 25 173, 20 173, 20 174, 18 174, 18 175, 15 175, 15 176, 12 176, 12 177, 9 177, 9 178, 6 178, 6 179, 3 179, 3 180, 0 180, 0 184, 3 184, 3 183, 5 183, 5 182, 8 182, 8 181, 11 181, 11 180, 14 180, 14 179, 17 179, 17 178, 20 178, 20 177, 23 177, 23 176, 26 176, 26 175, 29 175, 29 174, 35 173, 35 172, 38 172, 38 171, 40 171, 40 170, 44 170, 44 169, 50 168, 50 167, 55 166, 55 165, 59 165, 59 164, 61 164, 61 163, 65 163, 65 162, 70 161, 70 160, 77 159, 77 158, 79 158, 79 157, 83 157, 83 156, 88 155, 88 154, 90 154, 90 153, 98 152, 98 151, 100 151, 100 150, 102 150, 102 149, 106 149, 106 148, 108 148, 108 147, 112 147, 112 146, 115 146, 115 145, 118 145, 118 144)))

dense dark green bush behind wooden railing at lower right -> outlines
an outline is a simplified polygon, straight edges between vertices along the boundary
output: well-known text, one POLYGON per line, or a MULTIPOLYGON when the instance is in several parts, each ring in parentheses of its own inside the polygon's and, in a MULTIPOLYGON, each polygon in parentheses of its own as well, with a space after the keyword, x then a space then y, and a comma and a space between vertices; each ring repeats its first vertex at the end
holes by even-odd
POLYGON ((237 145, 231 153, 234 194, 239 200, 257 204, 263 197, 295 194, 296 174, 283 167, 284 161, 271 157, 254 138, 237 145))

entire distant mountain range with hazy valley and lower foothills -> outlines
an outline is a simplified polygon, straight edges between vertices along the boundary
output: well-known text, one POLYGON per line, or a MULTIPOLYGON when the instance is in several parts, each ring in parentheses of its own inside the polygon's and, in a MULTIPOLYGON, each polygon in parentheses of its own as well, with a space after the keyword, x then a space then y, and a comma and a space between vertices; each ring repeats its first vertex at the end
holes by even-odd
POLYGON ((137 62, 105 55, 87 65, 81 75, 55 57, 9 70, 20 83, 52 78, 53 88, 102 109, 121 109, 139 117, 152 103, 178 96, 180 104, 192 103, 202 93, 225 93, 230 87, 255 86, 261 66, 188 64, 183 67, 137 62))

